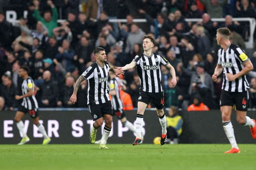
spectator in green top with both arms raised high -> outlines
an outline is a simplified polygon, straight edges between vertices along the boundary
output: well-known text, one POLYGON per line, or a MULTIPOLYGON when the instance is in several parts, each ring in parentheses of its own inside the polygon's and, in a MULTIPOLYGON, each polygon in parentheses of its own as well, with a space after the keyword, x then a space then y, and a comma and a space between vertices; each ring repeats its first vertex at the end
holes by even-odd
POLYGON ((51 7, 52 9, 52 15, 50 11, 45 11, 44 12, 44 18, 40 16, 40 12, 38 10, 38 7, 40 5, 38 0, 34 0, 34 17, 36 18, 37 21, 41 21, 48 29, 48 35, 53 36, 52 30, 58 26, 57 20, 58 20, 58 12, 57 9, 55 8, 53 2, 51 0, 47 1, 47 4, 51 7))

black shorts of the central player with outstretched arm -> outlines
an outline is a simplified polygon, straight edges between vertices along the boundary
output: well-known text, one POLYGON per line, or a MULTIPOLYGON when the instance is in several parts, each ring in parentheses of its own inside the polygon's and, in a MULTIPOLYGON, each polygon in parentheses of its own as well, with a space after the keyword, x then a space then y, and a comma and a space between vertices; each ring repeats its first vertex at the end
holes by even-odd
POLYGON ((164 108, 164 92, 150 93, 140 90, 138 102, 149 104, 152 102, 157 109, 164 108))

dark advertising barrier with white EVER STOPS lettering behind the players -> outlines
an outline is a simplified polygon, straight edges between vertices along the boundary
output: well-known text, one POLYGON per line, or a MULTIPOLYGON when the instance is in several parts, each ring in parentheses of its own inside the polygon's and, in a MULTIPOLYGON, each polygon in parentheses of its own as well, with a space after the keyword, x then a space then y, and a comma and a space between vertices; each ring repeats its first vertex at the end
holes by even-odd
MULTIPOLYGON (((41 109, 39 111, 40 123, 43 123, 46 132, 52 138, 51 143, 90 143, 90 127, 92 126, 93 120, 89 111, 87 109, 68 110, 47 111, 47 109, 41 109)), ((0 112, 0 144, 17 144, 21 139, 16 123, 13 121, 14 115, 14 111, 0 112)), ((180 143, 228 143, 222 127, 219 110, 183 112, 180 115, 184 120, 180 143)), ((248 115, 255 118, 253 111, 248 111, 248 115)), ((136 110, 126 111, 126 117, 134 123, 136 110)), ((42 134, 32 124, 30 117, 26 115, 23 121, 27 134, 30 137, 30 143, 42 143, 42 134)), ((161 133, 156 111, 147 110, 144 115, 144 121, 146 122, 142 129, 145 134, 144 143, 153 143, 153 139, 160 136, 161 133)), ((255 143, 255 140, 250 135, 249 128, 239 125, 236 122, 235 113, 232 115, 232 124, 238 143, 255 143)), ((97 140, 100 139, 102 130, 101 128, 98 131, 97 140)), ((132 143, 134 138, 134 134, 128 131, 127 127, 122 127, 122 123, 117 117, 114 117, 108 143, 132 143)))

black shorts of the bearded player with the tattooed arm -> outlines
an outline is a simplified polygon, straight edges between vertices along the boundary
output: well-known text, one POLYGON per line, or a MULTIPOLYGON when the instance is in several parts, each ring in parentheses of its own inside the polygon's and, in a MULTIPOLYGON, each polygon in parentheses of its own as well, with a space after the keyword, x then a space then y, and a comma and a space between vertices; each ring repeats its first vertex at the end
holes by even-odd
POLYGON ((94 121, 103 115, 113 115, 113 109, 110 101, 107 101, 104 104, 89 104, 88 107, 94 121))

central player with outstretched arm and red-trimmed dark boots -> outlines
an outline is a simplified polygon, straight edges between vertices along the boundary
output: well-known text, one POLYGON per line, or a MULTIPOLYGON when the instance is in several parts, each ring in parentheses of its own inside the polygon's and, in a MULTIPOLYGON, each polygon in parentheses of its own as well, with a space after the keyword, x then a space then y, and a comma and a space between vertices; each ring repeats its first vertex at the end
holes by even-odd
POLYGON ((152 53, 154 47, 154 38, 145 36, 143 38, 144 53, 136 55, 130 64, 121 67, 122 70, 128 70, 137 66, 138 75, 140 77, 140 94, 138 98, 138 110, 135 123, 136 139, 132 145, 140 145, 142 143, 141 131, 143 123, 143 115, 149 102, 156 106, 156 113, 162 126, 161 145, 166 143, 166 116, 164 115, 164 90, 161 84, 160 64, 164 64, 172 74, 172 85, 176 85, 176 74, 173 66, 160 56, 152 53))

